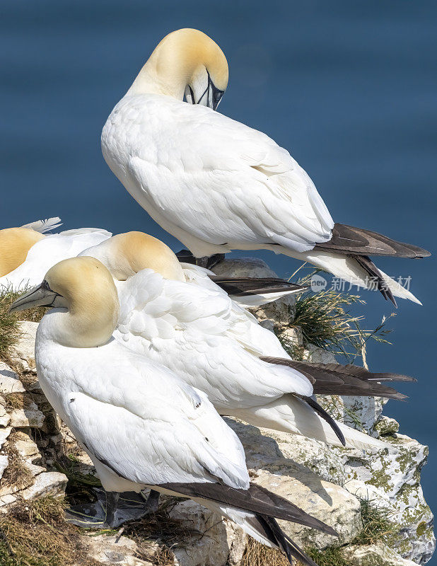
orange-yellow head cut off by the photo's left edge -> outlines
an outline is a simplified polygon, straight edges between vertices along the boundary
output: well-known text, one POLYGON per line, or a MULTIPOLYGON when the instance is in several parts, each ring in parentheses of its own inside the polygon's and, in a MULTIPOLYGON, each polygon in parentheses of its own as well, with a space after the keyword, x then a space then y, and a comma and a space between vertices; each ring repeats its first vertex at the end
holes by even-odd
POLYGON ((34 243, 45 238, 30 228, 6 228, 0 230, 0 277, 16 270, 28 255, 34 243))

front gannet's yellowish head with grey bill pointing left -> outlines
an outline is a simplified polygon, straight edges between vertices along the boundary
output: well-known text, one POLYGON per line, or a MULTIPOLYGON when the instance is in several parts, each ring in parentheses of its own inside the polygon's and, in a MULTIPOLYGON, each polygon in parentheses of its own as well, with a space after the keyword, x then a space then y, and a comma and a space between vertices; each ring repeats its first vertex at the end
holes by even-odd
POLYGON ((71 258, 51 267, 44 281, 13 302, 10 312, 36 306, 57 311, 52 339, 69 347, 105 344, 120 314, 117 289, 110 272, 95 258, 71 258))

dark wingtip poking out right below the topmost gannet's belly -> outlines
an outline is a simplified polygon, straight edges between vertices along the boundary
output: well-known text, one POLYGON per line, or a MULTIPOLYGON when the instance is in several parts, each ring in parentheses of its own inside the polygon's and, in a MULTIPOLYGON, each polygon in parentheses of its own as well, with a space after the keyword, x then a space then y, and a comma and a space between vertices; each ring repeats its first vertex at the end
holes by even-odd
POLYGON ((247 296, 265 293, 281 293, 294 291, 301 293, 308 289, 308 285, 298 285, 279 279, 279 277, 211 277, 212 281, 226 291, 228 295, 247 296))

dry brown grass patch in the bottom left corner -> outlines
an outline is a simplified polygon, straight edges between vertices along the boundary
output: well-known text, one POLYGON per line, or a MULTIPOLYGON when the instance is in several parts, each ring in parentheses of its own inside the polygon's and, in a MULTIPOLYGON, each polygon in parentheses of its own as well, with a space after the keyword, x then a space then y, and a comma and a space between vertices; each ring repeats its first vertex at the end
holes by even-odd
POLYGON ((98 566, 78 529, 64 522, 64 502, 44 497, 19 502, 0 519, 1 566, 98 566))

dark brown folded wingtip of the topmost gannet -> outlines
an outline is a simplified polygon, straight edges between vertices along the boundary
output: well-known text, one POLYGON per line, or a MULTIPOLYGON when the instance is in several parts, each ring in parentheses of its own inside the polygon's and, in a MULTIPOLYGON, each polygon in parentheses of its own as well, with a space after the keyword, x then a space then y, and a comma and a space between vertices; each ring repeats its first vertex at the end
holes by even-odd
POLYGON ((397 258, 427 258, 429 251, 409 243, 397 242, 371 230, 334 224, 329 242, 317 243, 315 250, 352 255, 390 255, 397 258))

